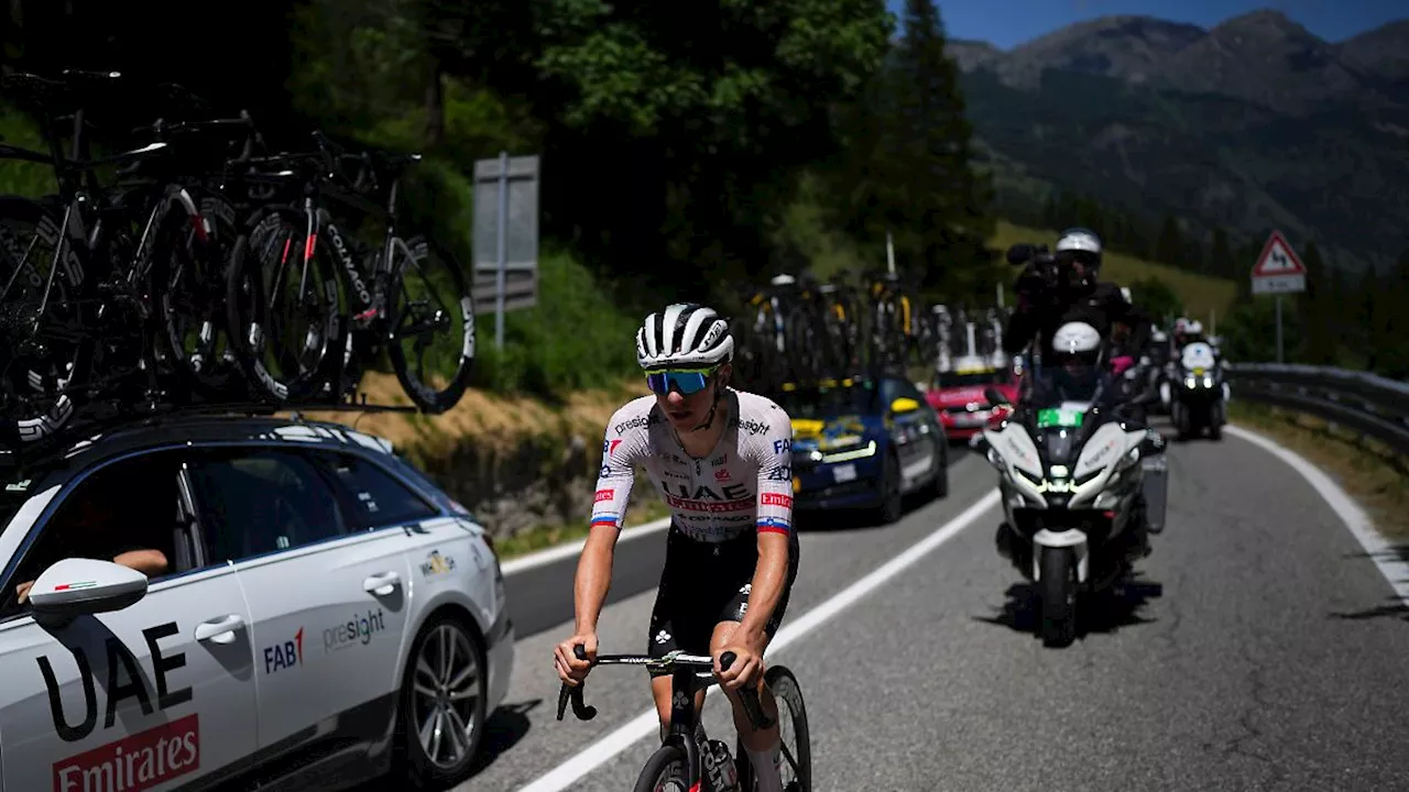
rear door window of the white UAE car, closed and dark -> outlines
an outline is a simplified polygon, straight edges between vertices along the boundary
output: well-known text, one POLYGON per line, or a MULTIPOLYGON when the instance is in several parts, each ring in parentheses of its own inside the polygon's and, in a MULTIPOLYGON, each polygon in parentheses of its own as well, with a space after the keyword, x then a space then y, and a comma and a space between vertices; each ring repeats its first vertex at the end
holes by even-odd
POLYGON ((240 561, 347 533, 333 489, 302 454, 209 450, 192 459, 190 479, 211 561, 240 561))

